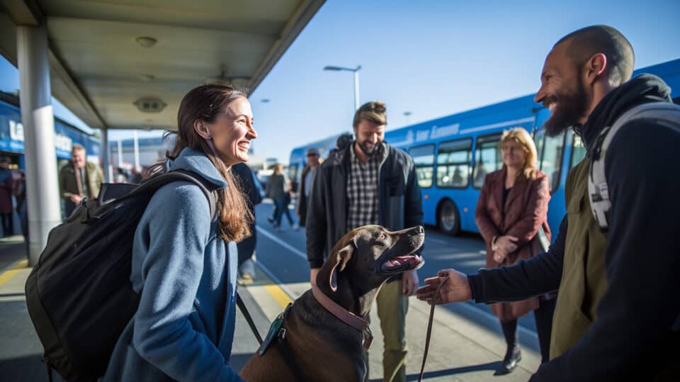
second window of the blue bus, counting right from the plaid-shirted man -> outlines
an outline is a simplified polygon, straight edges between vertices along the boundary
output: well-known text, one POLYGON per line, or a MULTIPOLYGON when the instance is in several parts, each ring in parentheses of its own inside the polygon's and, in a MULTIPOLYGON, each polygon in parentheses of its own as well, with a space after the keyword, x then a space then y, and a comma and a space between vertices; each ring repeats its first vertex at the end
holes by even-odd
POLYGON ((439 144, 437 186, 463 189, 470 178, 472 140, 453 140, 439 144))

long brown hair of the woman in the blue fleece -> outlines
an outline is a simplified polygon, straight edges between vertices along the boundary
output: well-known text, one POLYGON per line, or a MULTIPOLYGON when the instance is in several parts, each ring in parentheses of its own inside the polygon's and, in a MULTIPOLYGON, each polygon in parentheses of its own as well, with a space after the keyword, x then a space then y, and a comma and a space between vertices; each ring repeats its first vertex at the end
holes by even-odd
MULTIPOLYGON (((177 112, 177 132, 166 131, 165 137, 175 135, 175 145, 166 152, 168 159, 175 159, 186 147, 203 152, 217 171, 227 182, 227 187, 220 193, 217 210, 220 212, 218 230, 220 237, 226 241, 239 242, 251 235, 250 223, 254 221, 248 208, 241 184, 232 175, 231 169, 213 152, 205 140, 196 133, 193 125, 196 120, 205 123, 215 122, 219 113, 232 101, 240 97, 247 98, 245 91, 229 85, 208 84, 191 89, 182 99, 177 112)), ((164 161, 149 167, 147 174, 154 176, 166 171, 164 161)))

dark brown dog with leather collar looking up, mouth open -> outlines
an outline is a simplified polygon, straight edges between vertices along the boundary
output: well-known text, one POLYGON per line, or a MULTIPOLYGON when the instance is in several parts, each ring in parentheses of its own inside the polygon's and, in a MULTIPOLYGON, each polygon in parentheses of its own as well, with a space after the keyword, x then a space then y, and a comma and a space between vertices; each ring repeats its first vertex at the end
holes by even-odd
POLYGON ((318 288, 312 287, 314 291, 305 292, 286 310, 283 329, 263 355, 256 353, 249 359, 242 378, 363 381, 362 344, 370 330, 362 330, 361 322, 365 322, 361 318, 368 316, 375 295, 390 276, 423 264, 414 252, 424 238, 420 226, 390 232, 380 225, 365 225, 348 232, 319 269, 318 288))

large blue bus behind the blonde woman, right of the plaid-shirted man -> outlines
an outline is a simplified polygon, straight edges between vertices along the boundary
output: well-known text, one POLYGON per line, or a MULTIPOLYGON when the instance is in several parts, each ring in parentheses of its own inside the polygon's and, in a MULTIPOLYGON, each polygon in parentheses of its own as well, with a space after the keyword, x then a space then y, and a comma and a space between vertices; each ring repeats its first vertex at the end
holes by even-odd
MULTIPOLYGON (((680 60, 635 71, 656 74, 680 103, 680 60)), ((475 206, 486 174, 502 167, 499 142, 504 130, 521 127, 533 133, 538 166, 550 178, 548 224, 557 232, 565 215, 567 172, 585 156, 580 138, 568 130, 547 137, 541 128, 550 111, 533 94, 476 108, 385 133, 385 141, 414 159, 423 194, 424 223, 450 235, 479 232, 475 206)))

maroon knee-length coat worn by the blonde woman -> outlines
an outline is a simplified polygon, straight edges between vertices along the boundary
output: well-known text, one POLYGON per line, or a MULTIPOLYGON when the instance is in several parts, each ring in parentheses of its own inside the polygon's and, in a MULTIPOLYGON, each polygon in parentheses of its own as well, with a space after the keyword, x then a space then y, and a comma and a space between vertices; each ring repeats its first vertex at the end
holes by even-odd
MULTIPOLYGON (((539 252, 538 228, 543 227, 550 239, 548 176, 536 170, 536 179, 519 174, 503 206, 506 167, 487 175, 475 209, 475 223, 487 244, 487 268, 497 268, 528 259, 539 252), (519 238, 518 249, 509 254, 502 264, 494 260, 491 241, 494 236, 511 235, 519 238)), ((491 308, 501 322, 513 320, 538 308, 538 297, 514 303, 496 303, 491 308)))

